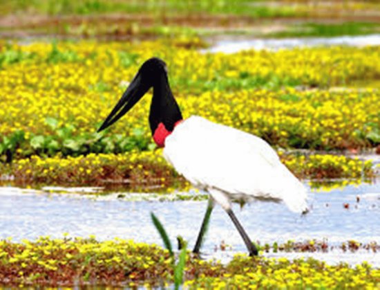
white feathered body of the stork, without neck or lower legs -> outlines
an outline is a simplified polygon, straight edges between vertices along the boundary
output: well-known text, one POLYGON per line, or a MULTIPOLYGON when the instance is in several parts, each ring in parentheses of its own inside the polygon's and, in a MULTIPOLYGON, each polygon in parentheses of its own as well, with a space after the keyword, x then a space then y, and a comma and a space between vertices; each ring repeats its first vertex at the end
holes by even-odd
POLYGON ((257 136, 191 116, 165 140, 164 157, 225 209, 229 200, 267 199, 307 210, 303 184, 257 136))

